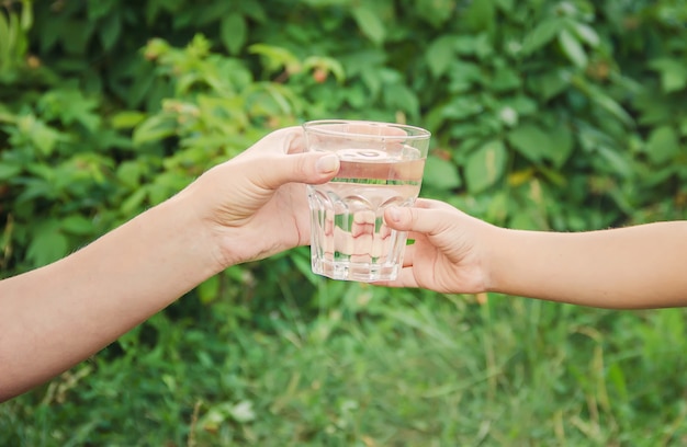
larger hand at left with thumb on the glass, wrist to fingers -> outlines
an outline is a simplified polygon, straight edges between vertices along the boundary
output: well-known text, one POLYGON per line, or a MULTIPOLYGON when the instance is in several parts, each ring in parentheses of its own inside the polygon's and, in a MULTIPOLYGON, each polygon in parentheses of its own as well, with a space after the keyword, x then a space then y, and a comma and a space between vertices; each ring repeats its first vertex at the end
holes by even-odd
POLYGON ((216 240, 221 266, 309 243, 304 183, 327 182, 339 160, 304 150, 301 127, 277 130, 179 194, 192 197, 189 203, 216 240))

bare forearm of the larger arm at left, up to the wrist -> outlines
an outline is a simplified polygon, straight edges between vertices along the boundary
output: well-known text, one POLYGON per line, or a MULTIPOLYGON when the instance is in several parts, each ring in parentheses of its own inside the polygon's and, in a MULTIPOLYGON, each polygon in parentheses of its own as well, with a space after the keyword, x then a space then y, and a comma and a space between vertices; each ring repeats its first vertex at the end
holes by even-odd
POLYGON ((0 401, 87 358, 218 271, 210 234, 180 200, 2 282, 0 401))

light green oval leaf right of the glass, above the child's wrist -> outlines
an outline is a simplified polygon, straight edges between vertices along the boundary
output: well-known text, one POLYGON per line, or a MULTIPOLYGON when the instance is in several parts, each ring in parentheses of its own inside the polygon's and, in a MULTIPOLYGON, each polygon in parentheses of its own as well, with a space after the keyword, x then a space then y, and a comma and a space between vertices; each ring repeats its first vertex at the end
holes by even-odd
POLYGON ((471 193, 480 193, 503 177, 507 161, 502 140, 491 140, 472 152, 465 163, 465 183, 471 193))

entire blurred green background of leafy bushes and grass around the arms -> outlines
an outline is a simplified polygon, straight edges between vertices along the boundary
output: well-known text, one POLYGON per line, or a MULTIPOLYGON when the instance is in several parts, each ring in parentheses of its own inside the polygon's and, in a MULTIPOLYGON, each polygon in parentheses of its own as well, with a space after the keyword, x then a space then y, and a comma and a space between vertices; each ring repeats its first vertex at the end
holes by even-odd
MULTIPOLYGON (((324 117, 430 129, 421 196, 499 226, 684 219, 687 1, 4 0, 1 276, 324 117)), ((331 282, 304 248, 0 404, 0 445, 683 446, 686 317, 331 282)))

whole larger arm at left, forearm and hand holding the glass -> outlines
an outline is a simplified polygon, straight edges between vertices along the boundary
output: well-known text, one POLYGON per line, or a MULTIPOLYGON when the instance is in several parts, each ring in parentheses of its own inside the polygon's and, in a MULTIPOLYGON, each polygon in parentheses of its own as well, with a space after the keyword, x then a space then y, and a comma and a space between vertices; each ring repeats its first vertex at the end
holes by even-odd
POLYGON ((0 282, 0 401, 68 369, 229 265, 307 243, 304 185, 338 170, 271 134, 169 200, 50 265, 0 282))

